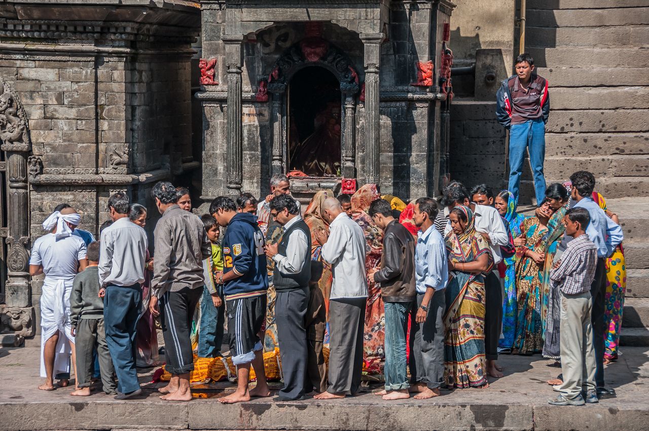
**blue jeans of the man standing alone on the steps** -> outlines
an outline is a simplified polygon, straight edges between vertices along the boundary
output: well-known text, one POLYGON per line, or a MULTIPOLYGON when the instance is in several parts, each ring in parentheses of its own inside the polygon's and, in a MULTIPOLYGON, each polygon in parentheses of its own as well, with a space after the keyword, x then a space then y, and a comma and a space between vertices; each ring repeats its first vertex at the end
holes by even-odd
POLYGON ((545 200, 545 123, 542 118, 528 119, 524 123, 513 124, 509 129, 509 187, 516 202, 519 201, 519 183, 522 175, 525 149, 530 153, 530 166, 534 177, 534 193, 537 205, 545 200))

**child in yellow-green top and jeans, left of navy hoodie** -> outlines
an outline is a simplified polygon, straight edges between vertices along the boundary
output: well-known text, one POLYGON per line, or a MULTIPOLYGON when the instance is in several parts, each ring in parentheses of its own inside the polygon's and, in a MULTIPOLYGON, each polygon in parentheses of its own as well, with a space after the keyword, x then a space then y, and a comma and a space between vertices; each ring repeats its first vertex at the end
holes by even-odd
POLYGON ((199 328, 200 358, 216 358, 221 354, 223 326, 225 325, 225 301, 223 285, 217 284, 214 274, 223 271, 223 252, 219 241, 219 225, 214 217, 201 217, 208 240, 212 243, 212 256, 203 261, 205 287, 201 299, 201 326, 199 328))

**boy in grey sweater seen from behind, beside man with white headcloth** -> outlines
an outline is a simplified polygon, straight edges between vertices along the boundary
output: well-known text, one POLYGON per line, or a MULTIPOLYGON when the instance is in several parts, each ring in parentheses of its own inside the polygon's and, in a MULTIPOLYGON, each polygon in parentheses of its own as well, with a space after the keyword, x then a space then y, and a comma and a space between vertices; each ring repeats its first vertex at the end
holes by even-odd
POLYGON ((88 267, 75 276, 70 293, 70 323, 75 337, 77 352, 77 386, 79 389, 70 395, 87 397, 90 395, 92 377, 93 348, 97 347, 99 369, 104 392, 116 395, 113 377, 113 362, 106 345, 104 332, 105 289, 99 289, 99 242, 88 245, 88 267))

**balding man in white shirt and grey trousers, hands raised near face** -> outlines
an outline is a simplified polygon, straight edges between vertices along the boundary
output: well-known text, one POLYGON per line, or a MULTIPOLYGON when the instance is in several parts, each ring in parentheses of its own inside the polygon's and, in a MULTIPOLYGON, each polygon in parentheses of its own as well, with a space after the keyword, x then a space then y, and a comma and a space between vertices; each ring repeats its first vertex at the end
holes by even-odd
POLYGON ((332 265, 329 296, 329 388, 316 399, 345 398, 358 391, 363 371, 363 326, 367 302, 365 235, 335 197, 323 202, 330 233, 317 232, 322 257, 332 265))

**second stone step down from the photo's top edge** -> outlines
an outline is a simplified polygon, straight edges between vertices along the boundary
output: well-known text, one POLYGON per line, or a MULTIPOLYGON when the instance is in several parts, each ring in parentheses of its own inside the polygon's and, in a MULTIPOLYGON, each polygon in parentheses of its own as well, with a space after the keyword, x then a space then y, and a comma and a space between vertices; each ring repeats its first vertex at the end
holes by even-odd
MULTIPOLYGON (((646 6, 646 5, 645 5, 646 6)), ((604 9, 527 8, 526 22, 531 27, 602 27, 608 25, 644 25, 648 7, 604 9)))

